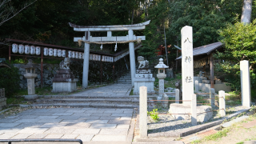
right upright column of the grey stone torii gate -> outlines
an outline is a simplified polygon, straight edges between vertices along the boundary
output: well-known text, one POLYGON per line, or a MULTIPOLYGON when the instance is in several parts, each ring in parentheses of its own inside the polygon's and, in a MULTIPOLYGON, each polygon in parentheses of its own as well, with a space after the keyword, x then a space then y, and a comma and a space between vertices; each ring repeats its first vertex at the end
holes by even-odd
MULTIPOLYGON (((134 40, 134 31, 129 30, 129 40, 134 40)), ((136 71, 135 65, 135 52, 134 52, 134 42, 129 42, 129 51, 130 51, 130 75, 131 75, 131 84, 134 86, 134 77, 136 71)))

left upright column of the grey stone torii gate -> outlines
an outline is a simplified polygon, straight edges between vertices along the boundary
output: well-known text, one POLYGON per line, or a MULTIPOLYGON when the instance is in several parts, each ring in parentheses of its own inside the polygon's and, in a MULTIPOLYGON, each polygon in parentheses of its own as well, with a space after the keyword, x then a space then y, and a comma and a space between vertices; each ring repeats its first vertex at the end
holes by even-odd
MULTIPOLYGON (((90 31, 86 31, 86 33, 88 33, 88 38, 90 38, 90 31)), ((90 58, 90 44, 85 42, 83 72, 82 72, 82 87, 83 88, 86 88, 88 86, 89 58, 90 58)))

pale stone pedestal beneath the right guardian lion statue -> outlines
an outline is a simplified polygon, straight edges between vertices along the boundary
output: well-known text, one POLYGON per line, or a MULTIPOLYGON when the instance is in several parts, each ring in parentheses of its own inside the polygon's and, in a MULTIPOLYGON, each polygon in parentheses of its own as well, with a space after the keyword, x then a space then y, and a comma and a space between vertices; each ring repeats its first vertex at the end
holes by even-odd
POLYGON ((153 74, 135 74, 134 94, 139 94, 140 86, 146 86, 147 93, 154 94, 154 80, 153 74))

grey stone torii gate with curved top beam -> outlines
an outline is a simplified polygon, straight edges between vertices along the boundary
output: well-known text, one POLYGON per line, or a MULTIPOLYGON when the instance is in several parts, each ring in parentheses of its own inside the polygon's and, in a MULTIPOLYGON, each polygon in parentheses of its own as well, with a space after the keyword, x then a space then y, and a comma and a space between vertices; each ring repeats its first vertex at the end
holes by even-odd
MULTIPOLYGON (((146 40, 145 36, 135 36, 134 30, 144 30, 150 21, 134 24, 134 25, 114 25, 114 26, 77 26, 70 23, 70 26, 74 28, 74 31, 83 31, 85 36, 82 38, 75 37, 74 42, 82 40, 85 42, 84 50, 84 62, 83 62, 83 74, 82 74, 82 86, 86 88, 88 86, 88 74, 89 74, 89 57, 90 57, 90 42, 121 42, 121 41, 131 41, 146 40), (106 37, 92 37, 90 32, 107 32, 106 37), (128 31, 126 36, 112 36, 112 31, 128 31), (86 43, 88 42, 88 43, 86 43)), ((134 86, 134 75, 136 70, 135 65, 135 54, 134 54, 134 42, 129 42, 130 51, 130 74, 131 74, 131 84, 134 86)), ((114 62, 114 60, 113 60, 114 62)))

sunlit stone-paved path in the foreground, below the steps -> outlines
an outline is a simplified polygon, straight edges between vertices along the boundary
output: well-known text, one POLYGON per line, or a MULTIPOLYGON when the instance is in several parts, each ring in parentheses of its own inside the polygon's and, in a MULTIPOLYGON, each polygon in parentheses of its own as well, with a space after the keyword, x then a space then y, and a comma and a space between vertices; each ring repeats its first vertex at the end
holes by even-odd
POLYGON ((0 139, 78 138, 83 142, 127 142, 132 114, 133 109, 30 109, 1 119, 0 139))

